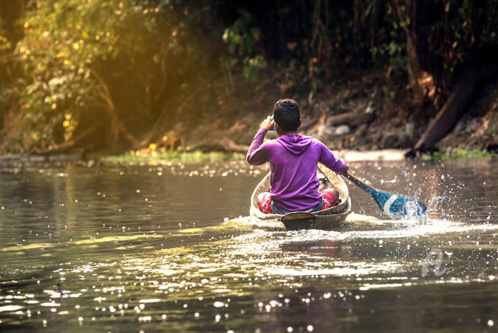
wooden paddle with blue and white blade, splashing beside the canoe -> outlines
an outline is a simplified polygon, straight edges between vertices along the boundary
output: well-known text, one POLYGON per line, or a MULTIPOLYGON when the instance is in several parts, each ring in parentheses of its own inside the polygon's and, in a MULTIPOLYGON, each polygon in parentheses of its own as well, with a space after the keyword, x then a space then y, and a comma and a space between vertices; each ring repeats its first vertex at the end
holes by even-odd
POLYGON ((360 187, 360 189, 370 193, 371 196, 374 197, 374 200, 376 200, 378 207, 380 207, 380 209, 382 209, 385 214, 391 217, 403 218, 409 215, 407 211, 409 211, 410 213, 416 213, 417 216, 422 216, 427 210, 425 204, 414 198, 397 196, 396 194, 380 191, 365 184, 365 182, 362 182, 361 180, 356 178, 349 171, 347 171, 347 173, 341 174, 344 175, 347 179, 351 180, 351 182, 356 184, 358 187, 360 187))

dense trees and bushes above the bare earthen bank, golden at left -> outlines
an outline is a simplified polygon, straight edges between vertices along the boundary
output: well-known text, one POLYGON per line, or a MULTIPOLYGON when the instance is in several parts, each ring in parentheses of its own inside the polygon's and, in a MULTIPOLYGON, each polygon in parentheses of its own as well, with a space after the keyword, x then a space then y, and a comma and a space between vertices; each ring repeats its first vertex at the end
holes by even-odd
POLYGON ((496 0, 0 0, 0 150, 138 149, 237 115, 264 80, 313 108, 355 70, 437 110, 496 61, 497 16, 496 0))

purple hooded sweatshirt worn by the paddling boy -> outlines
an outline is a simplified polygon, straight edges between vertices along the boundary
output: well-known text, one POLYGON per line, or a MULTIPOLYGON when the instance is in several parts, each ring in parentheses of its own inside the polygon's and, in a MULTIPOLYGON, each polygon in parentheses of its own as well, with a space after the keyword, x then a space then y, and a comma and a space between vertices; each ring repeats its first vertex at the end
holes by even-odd
POLYGON ((270 162, 270 194, 278 208, 303 211, 322 202, 322 194, 318 191, 317 162, 335 173, 342 173, 347 168, 343 160, 313 137, 282 135, 262 144, 265 135, 266 129, 257 131, 246 160, 252 165, 270 162))

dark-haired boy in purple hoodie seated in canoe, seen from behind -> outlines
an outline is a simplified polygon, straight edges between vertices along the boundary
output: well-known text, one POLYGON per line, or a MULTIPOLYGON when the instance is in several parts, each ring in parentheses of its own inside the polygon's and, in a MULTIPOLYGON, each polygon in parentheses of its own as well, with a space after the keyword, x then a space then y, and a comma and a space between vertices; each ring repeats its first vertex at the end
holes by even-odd
POLYGON ((273 108, 274 121, 268 116, 261 122, 246 160, 251 165, 270 162, 270 192, 258 197, 264 213, 285 215, 292 211, 321 211, 338 204, 336 189, 318 191, 317 162, 335 173, 347 171, 347 164, 333 155, 319 140, 297 134, 302 119, 293 99, 280 99, 273 108), (263 144, 267 131, 275 126, 277 140, 263 144))

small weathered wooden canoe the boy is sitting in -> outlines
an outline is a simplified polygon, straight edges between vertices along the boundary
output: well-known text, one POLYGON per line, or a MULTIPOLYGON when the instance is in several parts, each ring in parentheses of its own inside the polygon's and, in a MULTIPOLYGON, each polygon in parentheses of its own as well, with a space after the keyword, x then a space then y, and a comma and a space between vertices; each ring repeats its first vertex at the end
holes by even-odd
POLYGON ((250 216, 252 219, 264 220, 266 222, 283 223, 287 230, 299 229, 324 229, 331 230, 342 226, 344 220, 351 213, 351 198, 349 189, 344 180, 335 172, 318 166, 318 176, 320 179, 320 191, 334 187, 338 189, 340 198, 339 204, 335 207, 314 213, 293 212, 287 215, 266 214, 259 210, 257 197, 259 193, 270 191, 270 173, 268 173, 257 185, 251 196, 250 216))

